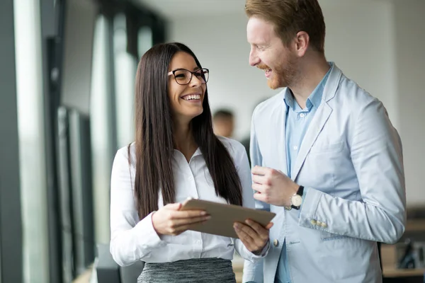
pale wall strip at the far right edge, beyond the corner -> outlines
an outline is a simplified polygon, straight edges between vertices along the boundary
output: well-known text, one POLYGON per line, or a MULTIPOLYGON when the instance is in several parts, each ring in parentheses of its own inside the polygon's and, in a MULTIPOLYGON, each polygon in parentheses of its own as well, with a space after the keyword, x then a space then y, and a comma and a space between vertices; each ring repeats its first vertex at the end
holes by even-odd
POLYGON ((395 1, 397 108, 407 203, 425 204, 425 2, 395 1))

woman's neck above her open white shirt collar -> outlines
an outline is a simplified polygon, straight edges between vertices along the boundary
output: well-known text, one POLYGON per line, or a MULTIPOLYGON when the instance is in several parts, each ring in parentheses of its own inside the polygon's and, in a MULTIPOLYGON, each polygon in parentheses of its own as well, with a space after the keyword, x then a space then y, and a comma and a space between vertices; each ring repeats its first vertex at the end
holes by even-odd
POLYGON ((191 160, 198 145, 193 138, 190 123, 174 123, 174 147, 186 157, 188 162, 191 160))

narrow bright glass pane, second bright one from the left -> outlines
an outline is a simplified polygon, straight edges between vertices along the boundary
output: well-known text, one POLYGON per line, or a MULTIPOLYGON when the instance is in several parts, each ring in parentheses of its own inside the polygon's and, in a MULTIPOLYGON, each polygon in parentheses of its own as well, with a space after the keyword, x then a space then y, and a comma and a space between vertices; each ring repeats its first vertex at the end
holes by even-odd
POLYGON ((109 242, 109 181, 113 141, 111 116, 111 64, 108 21, 99 16, 94 31, 94 53, 91 81, 91 152, 93 170, 94 225, 96 243, 109 242))

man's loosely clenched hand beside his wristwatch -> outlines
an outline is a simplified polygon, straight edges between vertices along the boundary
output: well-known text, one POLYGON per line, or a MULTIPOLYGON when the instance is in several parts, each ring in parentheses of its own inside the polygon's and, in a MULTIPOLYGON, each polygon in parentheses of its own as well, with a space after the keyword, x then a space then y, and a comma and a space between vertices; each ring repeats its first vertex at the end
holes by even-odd
POLYGON ((252 168, 252 180, 254 198, 278 207, 290 207, 290 197, 300 187, 281 171, 260 166, 252 168))

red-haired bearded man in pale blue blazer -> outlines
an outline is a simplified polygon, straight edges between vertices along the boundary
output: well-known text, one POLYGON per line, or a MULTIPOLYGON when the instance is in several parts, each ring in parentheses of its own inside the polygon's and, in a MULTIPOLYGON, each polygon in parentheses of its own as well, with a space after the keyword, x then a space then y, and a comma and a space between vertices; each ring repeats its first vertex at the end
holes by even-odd
POLYGON ((243 282, 382 282, 405 224, 402 145, 382 103, 324 57, 317 0, 246 0, 249 63, 283 90, 256 107, 253 189, 276 212, 243 282))

